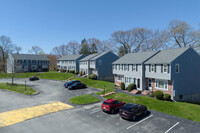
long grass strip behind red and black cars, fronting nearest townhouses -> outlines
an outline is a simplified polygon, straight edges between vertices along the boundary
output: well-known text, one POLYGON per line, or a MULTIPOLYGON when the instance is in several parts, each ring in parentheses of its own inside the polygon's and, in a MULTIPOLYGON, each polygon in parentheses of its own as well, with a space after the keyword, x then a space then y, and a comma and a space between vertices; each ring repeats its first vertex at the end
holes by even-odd
POLYGON ((200 105, 185 102, 161 101, 147 96, 130 96, 116 93, 107 96, 106 99, 118 99, 126 103, 137 103, 147 106, 148 109, 179 116, 189 120, 200 122, 200 105))

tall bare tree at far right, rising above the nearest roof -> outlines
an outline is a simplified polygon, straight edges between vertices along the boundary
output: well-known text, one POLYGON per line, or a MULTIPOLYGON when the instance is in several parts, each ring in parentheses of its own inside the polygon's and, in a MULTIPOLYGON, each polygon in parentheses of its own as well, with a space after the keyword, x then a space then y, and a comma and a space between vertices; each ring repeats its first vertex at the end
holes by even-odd
POLYGON ((194 48, 200 46, 200 32, 194 30, 185 21, 172 20, 170 21, 168 28, 169 35, 172 40, 174 40, 175 46, 193 46, 194 48))

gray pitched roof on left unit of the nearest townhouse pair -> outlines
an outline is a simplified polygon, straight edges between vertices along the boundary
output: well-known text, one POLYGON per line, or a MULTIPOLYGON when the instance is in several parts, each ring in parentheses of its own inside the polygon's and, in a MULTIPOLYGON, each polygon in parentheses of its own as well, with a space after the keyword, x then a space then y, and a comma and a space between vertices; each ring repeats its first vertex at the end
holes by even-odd
POLYGON ((142 64, 158 52, 159 51, 129 53, 113 62, 113 64, 142 64))

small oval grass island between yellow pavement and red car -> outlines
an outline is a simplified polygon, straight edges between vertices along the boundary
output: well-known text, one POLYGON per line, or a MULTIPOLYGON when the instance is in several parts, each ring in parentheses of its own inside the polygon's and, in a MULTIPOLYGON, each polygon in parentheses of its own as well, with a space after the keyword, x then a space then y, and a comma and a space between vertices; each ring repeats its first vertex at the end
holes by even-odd
POLYGON ((81 95, 73 97, 69 100, 72 104, 89 104, 99 102, 100 100, 92 95, 81 95))

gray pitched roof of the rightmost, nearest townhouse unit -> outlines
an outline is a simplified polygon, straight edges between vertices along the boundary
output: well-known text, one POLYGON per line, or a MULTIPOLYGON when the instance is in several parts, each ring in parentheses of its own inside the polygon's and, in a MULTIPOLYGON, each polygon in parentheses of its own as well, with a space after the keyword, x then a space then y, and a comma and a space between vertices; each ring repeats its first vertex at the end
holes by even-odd
POLYGON ((171 63, 178 56, 188 50, 190 47, 185 48, 174 48, 174 49, 166 49, 159 52, 157 55, 153 56, 149 59, 145 64, 167 64, 171 63))

